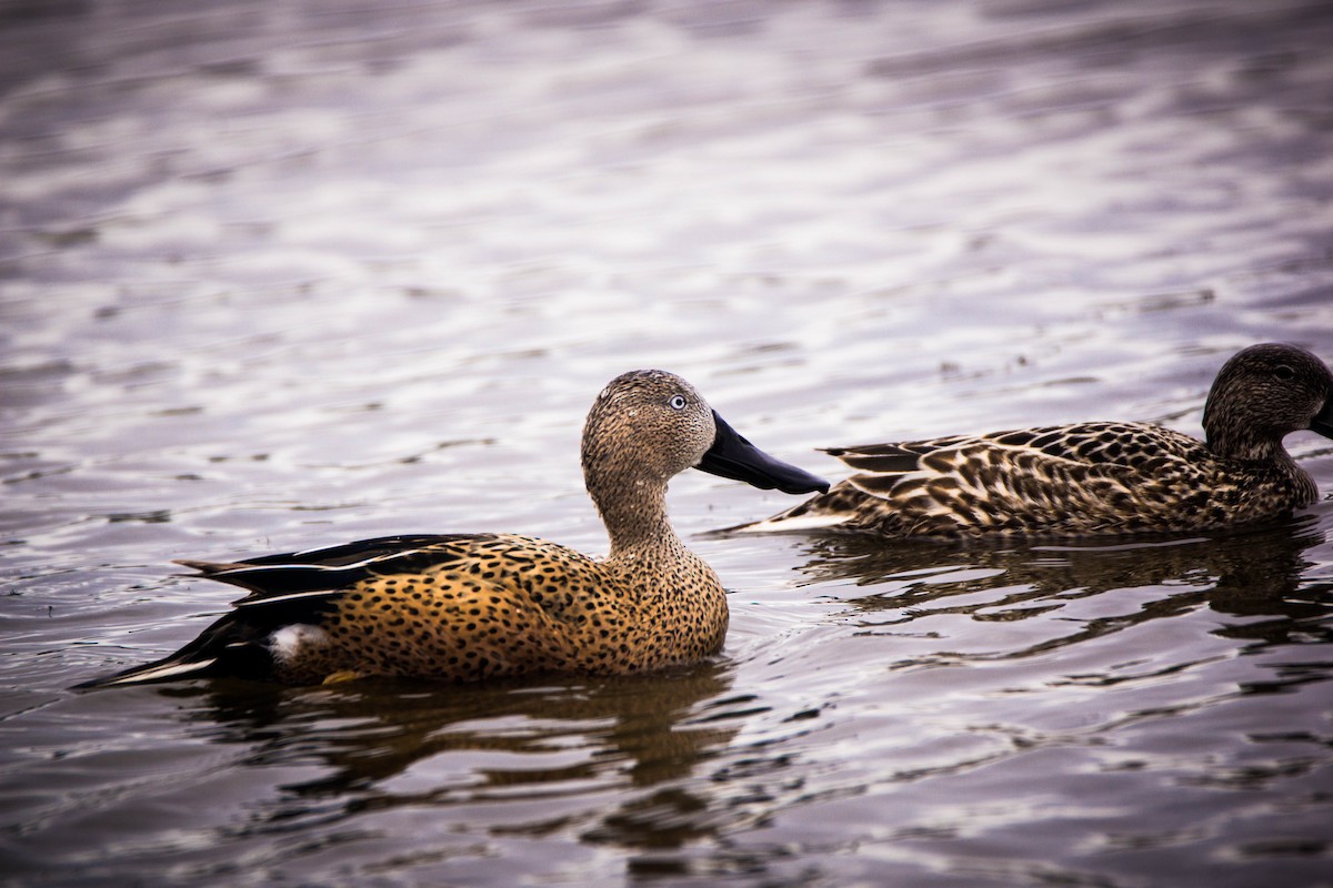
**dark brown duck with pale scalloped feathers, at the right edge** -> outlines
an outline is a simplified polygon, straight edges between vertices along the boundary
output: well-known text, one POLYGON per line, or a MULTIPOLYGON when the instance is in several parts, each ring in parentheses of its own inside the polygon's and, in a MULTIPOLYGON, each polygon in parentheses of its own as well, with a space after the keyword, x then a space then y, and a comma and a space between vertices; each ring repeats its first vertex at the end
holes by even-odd
POLYGON ((1333 438, 1333 375, 1310 351, 1232 355, 1204 406, 1202 441, 1149 422, 1080 422, 829 447, 856 474, 733 531, 886 538, 1181 534, 1276 519, 1318 498, 1282 446, 1333 438))

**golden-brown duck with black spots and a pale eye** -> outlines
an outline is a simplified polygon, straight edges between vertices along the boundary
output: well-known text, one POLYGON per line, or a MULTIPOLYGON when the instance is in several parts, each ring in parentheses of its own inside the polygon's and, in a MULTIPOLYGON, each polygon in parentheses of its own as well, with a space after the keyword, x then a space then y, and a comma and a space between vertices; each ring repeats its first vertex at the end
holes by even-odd
POLYGON ((717 574, 666 515, 666 482, 694 467, 800 495, 829 485, 752 445, 681 377, 624 373, 583 431, 584 482, 611 551, 592 558, 503 533, 407 534, 236 562, 179 560, 248 595, 175 654, 76 687, 232 678, 477 682, 627 675, 716 655, 717 574))

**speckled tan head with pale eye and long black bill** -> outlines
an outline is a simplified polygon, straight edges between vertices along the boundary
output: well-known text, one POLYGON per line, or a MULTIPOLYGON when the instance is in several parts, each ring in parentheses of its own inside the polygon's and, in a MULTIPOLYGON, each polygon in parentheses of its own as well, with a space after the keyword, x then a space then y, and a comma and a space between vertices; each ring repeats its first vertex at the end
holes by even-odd
POLYGON ((665 370, 631 370, 603 389, 584 426, 583 466, 589 490, 597 477, 665 483, 690 467, 788 494, 829 486, 738 435, 694 386, 665 370))

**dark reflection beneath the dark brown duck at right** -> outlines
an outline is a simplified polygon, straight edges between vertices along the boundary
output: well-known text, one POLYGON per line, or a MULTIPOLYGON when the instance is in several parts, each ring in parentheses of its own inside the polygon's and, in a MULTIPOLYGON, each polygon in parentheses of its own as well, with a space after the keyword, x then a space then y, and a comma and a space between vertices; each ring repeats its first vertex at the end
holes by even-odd
POLYGON ((1273 618, 1229 622, 1214 630, 1220 636, 1268 646, 1333 638, 1328 627, 1316 623, 1329 611, 1320 595, 1329 584, 1302 579, 1314 564, 1304 553, 1324 541, 1313 515, 1216 538, 1094 546, 885 546, 840 534, 813 538, 801 571, 814 584, 850 580, 854 587, 885 587, 845 599, 862 614, 876 614, 874 626, 941 614, 982 622, 1025 620, 1102 592, 1157 590, 1136 611, 1081 619, 1058 638, 981 656, 1028 656, 1200 606, 1240 618, 1273 618), (900 615, 882 619, 892 611, 900 615))

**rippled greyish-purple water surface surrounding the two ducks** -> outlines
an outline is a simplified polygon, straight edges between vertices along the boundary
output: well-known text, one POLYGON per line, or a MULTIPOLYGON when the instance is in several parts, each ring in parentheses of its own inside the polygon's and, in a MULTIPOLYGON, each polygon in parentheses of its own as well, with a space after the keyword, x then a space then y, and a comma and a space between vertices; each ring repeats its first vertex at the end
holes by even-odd
MULTIPOLYGON (((1333 358, 1326 3, 0 4, 0 880, 1333 884, 1333 505, 1136 545, 706 531, 637 679, 73 694, 227 608, 173 558, 605 551, 635 366, 818 446, 1198 430, 1333 358)), ((1333 442, 1289 447, 1333 490, 1333 442)))

